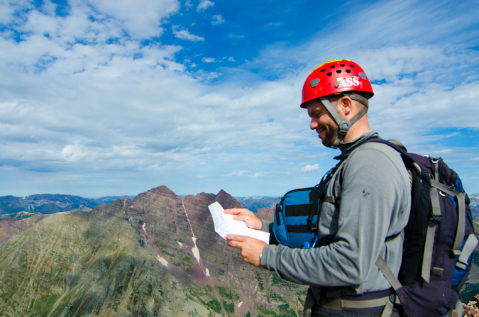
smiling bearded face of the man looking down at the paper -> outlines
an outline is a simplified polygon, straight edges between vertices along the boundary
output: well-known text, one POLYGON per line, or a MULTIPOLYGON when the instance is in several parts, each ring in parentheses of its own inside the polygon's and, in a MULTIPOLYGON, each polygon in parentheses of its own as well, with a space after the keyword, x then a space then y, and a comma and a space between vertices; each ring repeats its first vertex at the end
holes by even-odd
POLYGON ((334 121, 329 111, 326 110, 319 99, 309 101, 307 103, 307 109, 309 117, 311 118, 309 128, 316 130, 323 145, 331 148, 339 130, 336 121, 334 121))

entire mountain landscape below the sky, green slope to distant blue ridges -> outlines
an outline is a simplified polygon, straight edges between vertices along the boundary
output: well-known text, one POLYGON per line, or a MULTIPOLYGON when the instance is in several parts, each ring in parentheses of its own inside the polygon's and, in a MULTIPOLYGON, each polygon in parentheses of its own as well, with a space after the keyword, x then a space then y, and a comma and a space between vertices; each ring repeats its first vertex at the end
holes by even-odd
MULTIPOLYGON (((0 316, 302 316, 307 287, 243 262, 207 208, 219 201, 272 220, 279 199, 181 197, 164 186, 136 197, 0 197, 0 316)), ((477 214, 479 195, 470 200, 477 214)), ((479 294, 474 258, 463 301, 479 294)))

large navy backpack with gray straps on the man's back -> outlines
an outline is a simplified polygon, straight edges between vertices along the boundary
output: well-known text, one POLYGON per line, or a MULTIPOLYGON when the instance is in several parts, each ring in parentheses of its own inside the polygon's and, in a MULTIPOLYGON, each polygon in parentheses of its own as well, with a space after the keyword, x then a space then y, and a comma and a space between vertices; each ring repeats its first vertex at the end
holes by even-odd
POLYGON ((404 228, 399 277, 382 258, 376 262, 399 297, 402 316, 443 316, 452 308, 462 316, 458 294, 478 239, 461 179, 441 158, 409 153, 380 138, 368 141, 395 148, 412 174, 411 214, 404 228))

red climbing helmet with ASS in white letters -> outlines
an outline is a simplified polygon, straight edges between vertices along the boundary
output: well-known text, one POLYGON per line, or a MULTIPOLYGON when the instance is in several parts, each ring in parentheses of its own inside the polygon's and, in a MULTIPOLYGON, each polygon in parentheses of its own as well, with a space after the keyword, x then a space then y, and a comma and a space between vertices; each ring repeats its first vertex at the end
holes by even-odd
POLYGON ((304 82, 301 107, 312 99, 344 91, 363 91, 366 99, 374 95, 364 70, 351 60, 330 60, 309 74, 304 82))

